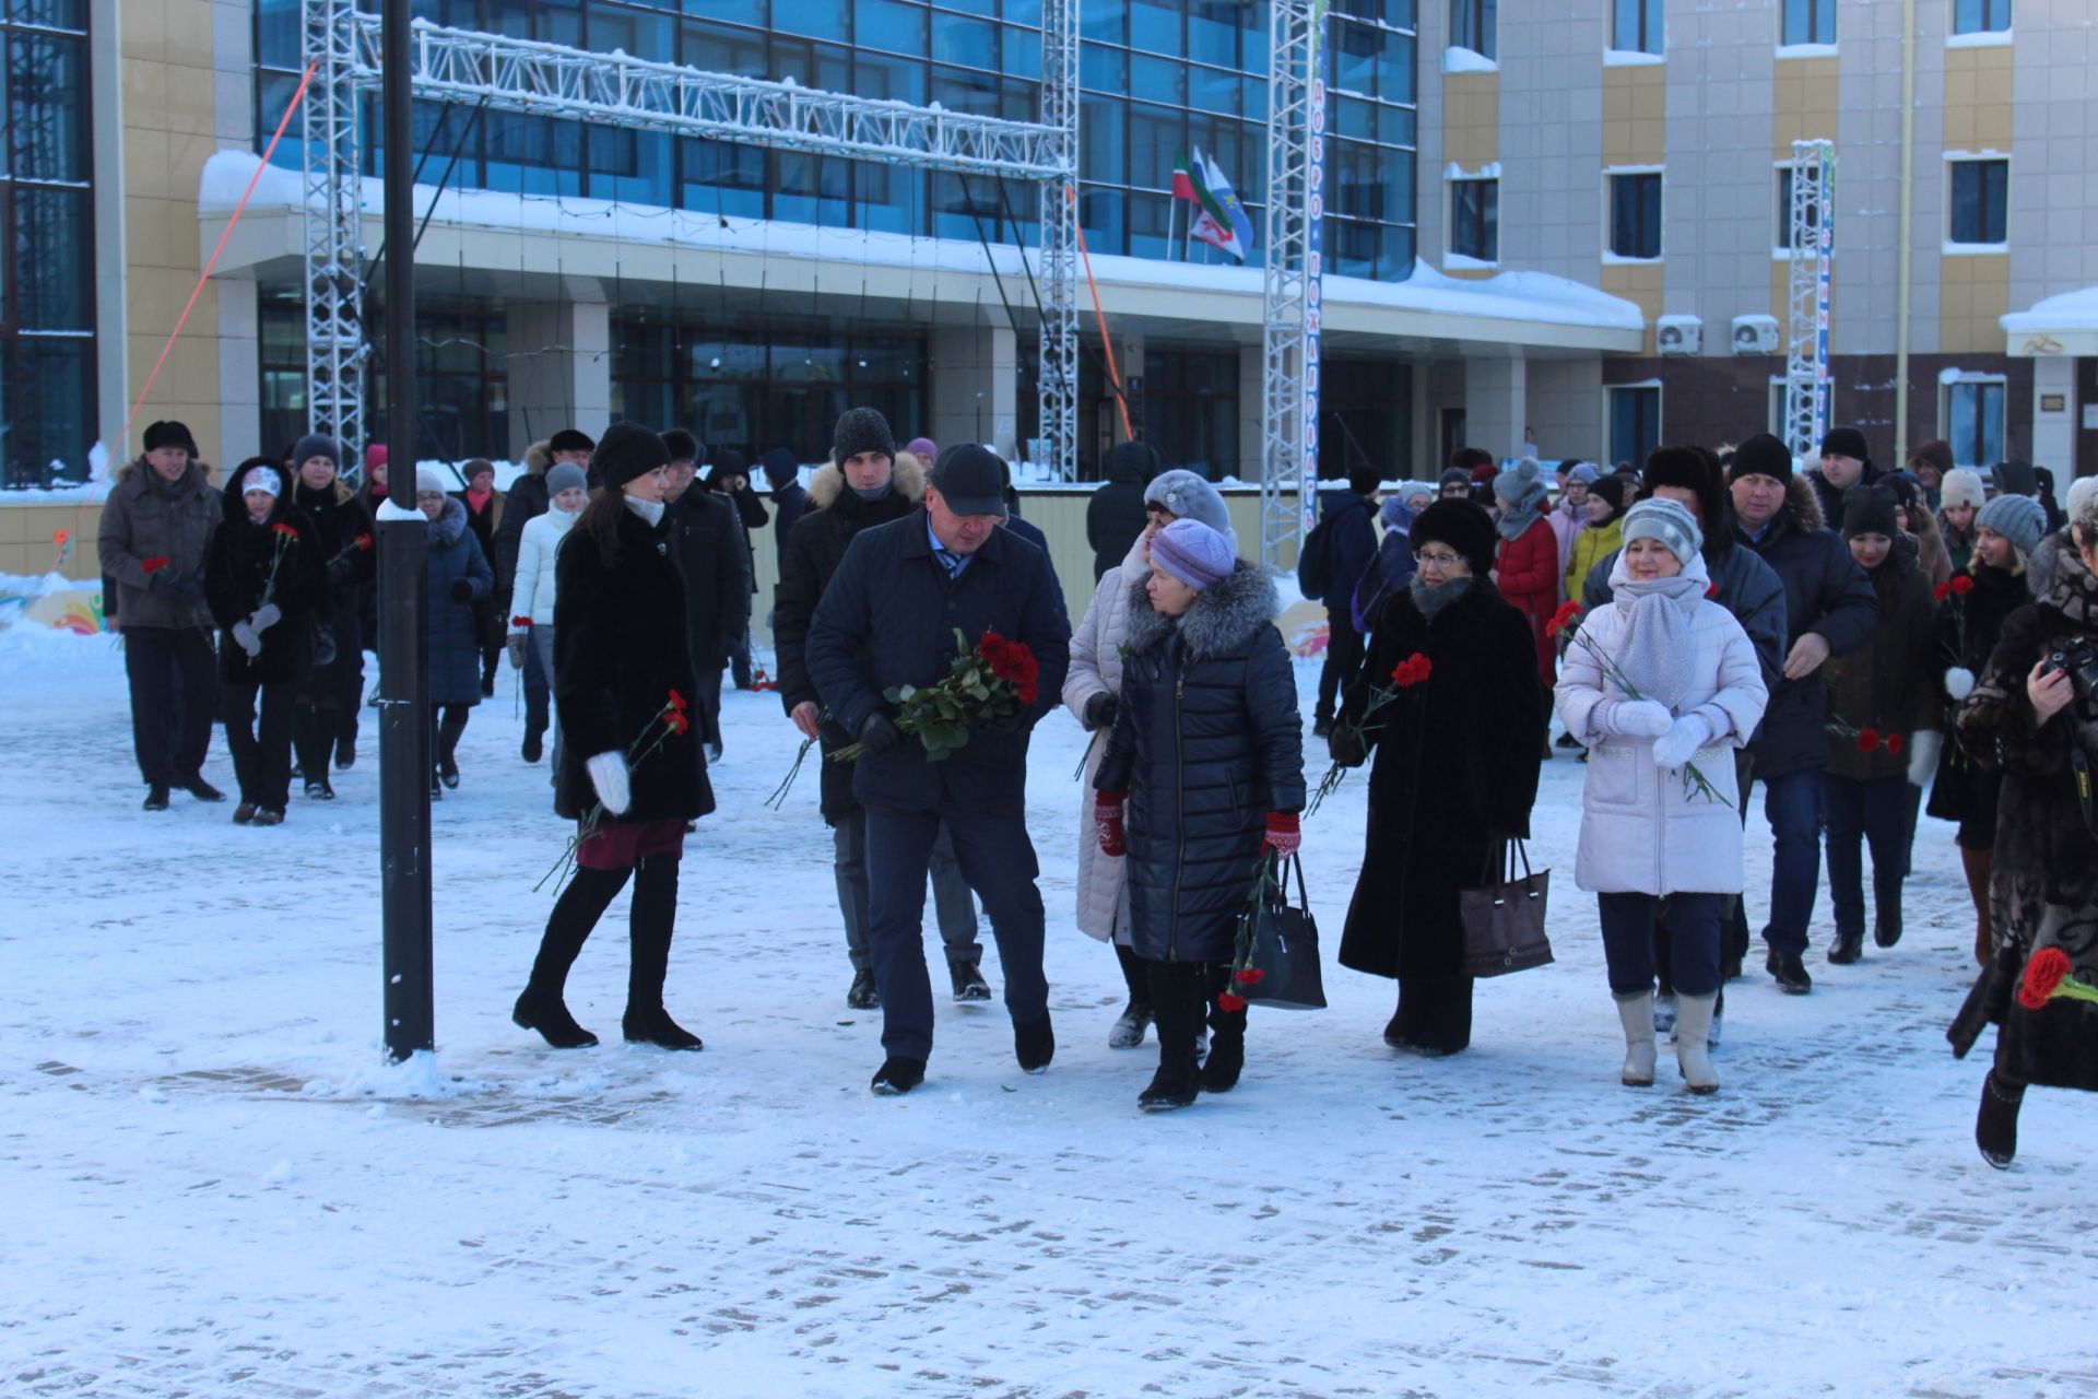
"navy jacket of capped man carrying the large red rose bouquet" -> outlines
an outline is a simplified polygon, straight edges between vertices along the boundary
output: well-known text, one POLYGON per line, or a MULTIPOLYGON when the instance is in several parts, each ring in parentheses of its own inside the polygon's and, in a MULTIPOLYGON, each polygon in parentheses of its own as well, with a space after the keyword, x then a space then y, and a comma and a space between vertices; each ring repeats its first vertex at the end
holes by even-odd
POLYGON ((896 713, 898 686, 929 686, 955 663, 955 633, 976 646, 984 631, 1024 642, 1041 665, 1041 694, 1020 724, 978 728, 969 742, 932 763, 915 738, 852 768, 860 805, 932 812, 1020 812, 1026 805, 1028 730, 1057 707, 1070 669, 1070 625, 1057 608, 1041 550, 990 531, 950 579, 932 556, 925 512, 854 537, 816 604, 804 648, 808 675, 848 734, 869 715, 896 713))

